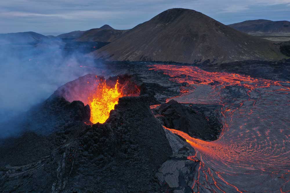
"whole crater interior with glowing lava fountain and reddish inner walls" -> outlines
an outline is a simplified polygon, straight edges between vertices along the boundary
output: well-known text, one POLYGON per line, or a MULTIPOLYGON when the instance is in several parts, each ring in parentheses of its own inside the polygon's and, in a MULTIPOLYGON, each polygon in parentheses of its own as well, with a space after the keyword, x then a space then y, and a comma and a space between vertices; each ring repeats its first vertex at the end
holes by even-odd
POLYGON ((82 101, 90 106, 90 121, 104 123, 124 96, 139 96, 140 88, 133 77, 122 75, 105 79, 88 74, 59 87, 54 93, 69 102, 82 101))

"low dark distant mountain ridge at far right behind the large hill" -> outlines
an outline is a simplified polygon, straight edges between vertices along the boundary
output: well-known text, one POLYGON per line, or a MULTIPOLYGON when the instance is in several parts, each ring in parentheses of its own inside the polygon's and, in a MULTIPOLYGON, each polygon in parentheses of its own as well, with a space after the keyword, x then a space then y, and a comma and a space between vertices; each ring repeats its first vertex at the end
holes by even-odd
POLYGON ((240 32, 290 33, 289 21, 247 20, 228 25, 240 32))

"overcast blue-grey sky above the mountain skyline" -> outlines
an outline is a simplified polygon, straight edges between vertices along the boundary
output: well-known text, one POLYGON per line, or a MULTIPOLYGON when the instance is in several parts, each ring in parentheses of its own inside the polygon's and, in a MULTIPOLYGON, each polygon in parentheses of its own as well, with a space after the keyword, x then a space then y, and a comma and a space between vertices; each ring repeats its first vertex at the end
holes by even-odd
POLYGON ((170 8, 193 9, 224 24, 251 19, 290 21, 290 0, 82 1, 1 0, 0 33, 34 31, 55 35, 104 24, 130 29, 170 8))

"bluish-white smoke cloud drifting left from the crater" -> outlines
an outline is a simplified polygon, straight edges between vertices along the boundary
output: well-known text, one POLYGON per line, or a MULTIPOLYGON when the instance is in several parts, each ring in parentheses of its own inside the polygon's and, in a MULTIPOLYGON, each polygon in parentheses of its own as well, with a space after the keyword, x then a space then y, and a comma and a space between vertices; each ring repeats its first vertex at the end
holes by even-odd
POLYGON ((0 45, 0 123, 28 111, 66 82, 104 69, 81 50, 68 54, 60 39, 20 45, 17 41, 0 45))

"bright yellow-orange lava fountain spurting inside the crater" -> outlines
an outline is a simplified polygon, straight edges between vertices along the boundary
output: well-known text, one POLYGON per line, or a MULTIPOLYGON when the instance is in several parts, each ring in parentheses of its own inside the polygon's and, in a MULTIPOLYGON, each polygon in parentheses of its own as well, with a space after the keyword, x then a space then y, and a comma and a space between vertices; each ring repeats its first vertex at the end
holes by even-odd
POLYGON ((97 91, 89 98, 92 123, 104 123, 109 118, 110 111, 114 110, 115 104, 123 96, 118 87, 118 80, 113 88, 107 86, 106 81, 99 84, 97 91))

